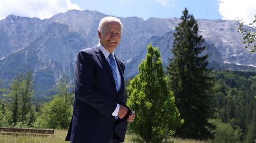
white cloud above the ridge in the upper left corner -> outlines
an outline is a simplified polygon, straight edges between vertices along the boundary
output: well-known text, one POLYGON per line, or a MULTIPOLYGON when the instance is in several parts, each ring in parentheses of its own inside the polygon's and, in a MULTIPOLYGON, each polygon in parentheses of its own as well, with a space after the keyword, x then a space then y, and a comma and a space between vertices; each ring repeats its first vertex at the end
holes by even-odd
POLYGON ((70 0, 1 0, 0 20, 10 14, 45 19, 72 9, 82 10, 70 0))

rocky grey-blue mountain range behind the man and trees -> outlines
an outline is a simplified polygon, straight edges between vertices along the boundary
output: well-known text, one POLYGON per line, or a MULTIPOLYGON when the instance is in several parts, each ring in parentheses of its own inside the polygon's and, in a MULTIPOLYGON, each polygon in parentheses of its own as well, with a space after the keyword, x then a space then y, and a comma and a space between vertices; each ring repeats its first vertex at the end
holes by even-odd
MULTIPOLYGON (((77 53, 98 44, 98 23, 105 16, 108 15, 97 11, 70 10, 44 20, 15 15, 0 20, 0 79, 8 84, 18 73, 31 71, 36 96, 51 94, 56 81, 62 77, 72 82, 77 53)), ((123 36, 116 54, 126 65, 126 79, 138 73, 149 43, 159 47, 163 64, 168 66, 168 59, 173 56, 170 50, 173 32, 180 19, 119 18, 123 23, 123 36)), ((236 30, 236 21, 198 19, 198 24, 211 67, 255 70, 256 53, 250 54, 240 44, 242 37, 236 30)))

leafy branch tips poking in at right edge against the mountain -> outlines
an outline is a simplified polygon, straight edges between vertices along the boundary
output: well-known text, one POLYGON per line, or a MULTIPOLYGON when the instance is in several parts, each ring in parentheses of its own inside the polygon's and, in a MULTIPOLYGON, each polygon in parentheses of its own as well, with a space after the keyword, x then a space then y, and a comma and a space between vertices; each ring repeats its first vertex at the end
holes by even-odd
MULTIPOLYGON (((246 28, 244 28, 244 22, 242 22, 242 20, 238 20, 238 22, 239 22, 238 32, 240 32, 242 36, 244 36, 242 38, 243 40, 242 44, 246 44, 245 48, 248 48, 249 46, 251 46, 250 52, 255 52, 256 51, 256 45, 255 45, 256 32, 255 31, 250 32, 246 28)), ((252 21, 252 23, 250 23, 249 25, 251 25, 253 28, 256 28, 256 15, 254 16, 254 20, 252 21)))

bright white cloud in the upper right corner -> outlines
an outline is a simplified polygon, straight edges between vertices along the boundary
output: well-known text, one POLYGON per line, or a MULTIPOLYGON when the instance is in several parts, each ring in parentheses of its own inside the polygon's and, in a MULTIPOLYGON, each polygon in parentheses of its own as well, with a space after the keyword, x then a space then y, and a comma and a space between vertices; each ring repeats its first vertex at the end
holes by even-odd
POLYGON ((224 20, 242 19, 247 25, 256 15, 255 0, 219 0, 219 13, 224 20))

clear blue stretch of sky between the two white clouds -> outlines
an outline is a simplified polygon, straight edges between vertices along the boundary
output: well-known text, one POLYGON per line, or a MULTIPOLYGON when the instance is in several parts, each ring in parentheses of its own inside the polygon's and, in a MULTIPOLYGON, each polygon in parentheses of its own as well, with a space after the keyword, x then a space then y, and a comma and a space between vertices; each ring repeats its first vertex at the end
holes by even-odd
POLYGON ((104 14, 119 17, 142 17, 144 20, 150 17, 171 18, 180 17, 185 7, 197 19, 221 19, 218 11, 218 0, 112 0, 112 1, 81 1, 71 0, 80 8, 97 10, 104 14))

